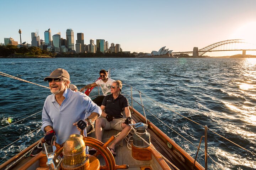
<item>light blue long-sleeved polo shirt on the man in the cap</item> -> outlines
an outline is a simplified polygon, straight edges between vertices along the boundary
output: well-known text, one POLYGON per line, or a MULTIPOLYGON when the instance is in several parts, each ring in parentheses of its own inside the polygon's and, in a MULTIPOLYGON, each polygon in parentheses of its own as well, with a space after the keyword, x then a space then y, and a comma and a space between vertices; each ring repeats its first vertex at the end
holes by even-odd
MULTIPOLYGON (((65 99, 60 106, 55 95, 49 95, 42 112, 42 131, 45 132, 46 126, 52 126, 59 144, 68 140, 71 134, 80 134, 73 123, 86 119, 86 113, 96 112, 101 115, 101 108, 85 94, 66 89, 63 96, 65 99)), ((86 136, 86 130, 84 134, 86 136)))

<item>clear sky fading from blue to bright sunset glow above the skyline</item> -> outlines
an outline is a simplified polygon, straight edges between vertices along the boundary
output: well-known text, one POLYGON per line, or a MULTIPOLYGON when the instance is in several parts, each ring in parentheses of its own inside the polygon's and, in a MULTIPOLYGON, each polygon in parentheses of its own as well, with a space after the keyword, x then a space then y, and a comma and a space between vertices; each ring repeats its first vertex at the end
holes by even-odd
MULTIPOLYGON (((231 39, 244 39, 244 48, 256 49, 255 0, 129 0, 129 1, 1 1, 0 42, 12 37, 31 44, 31 33, 40 39, 49 28, 52 35, 66 29, 84 33, 90 39, 120 44, 123 51, 158 51, 161 47, 179 51, 202 49, 231 39), (245 44, 244 44, 245 45, 245 44)), ((236 46, 238 48, 238 46, 236 46)), ((207 52, 208 56, 241 53, 207 52)), ((256 55, 256 51, 246 51, 256 55)))

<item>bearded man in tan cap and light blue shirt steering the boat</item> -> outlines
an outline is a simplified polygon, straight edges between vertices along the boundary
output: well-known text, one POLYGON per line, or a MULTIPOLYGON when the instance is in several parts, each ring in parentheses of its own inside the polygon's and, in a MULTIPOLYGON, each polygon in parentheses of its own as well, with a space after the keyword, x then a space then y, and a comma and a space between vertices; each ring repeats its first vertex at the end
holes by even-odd
POLYGON ((66 70, 55 69, 44 81, 49 82, 52 92, 46 98, 42 112, 42 131, 46 133, 44 138, 48 145, 55 145, 55 141, 64 143, 71 134, 79 134, 101 115, 100 107, 90 97, 68 89, 70 80, 66 70), (86 113, 91 115, 86 117, 86 113))

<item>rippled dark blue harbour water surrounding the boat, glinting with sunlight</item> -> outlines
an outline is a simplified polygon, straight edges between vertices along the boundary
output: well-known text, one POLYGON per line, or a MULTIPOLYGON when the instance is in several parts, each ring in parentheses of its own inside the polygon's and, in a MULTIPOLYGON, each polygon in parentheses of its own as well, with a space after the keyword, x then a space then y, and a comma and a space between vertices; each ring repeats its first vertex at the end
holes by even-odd
MULTIPOLYGON (((56 68, 68 70, 79 89, 93 83, 100 69, 111 68, 111 78, 143 93, 147 118, 193 158, 204 135, 201 125, 208 126, 208 169, 256 169, 256 155, 251 153, 256 153, 256 58, 0 59, 0 72, 44 86, 44 77, 56 68)), ((1 75, 0 82, 1 164, 43 136, 41 111, 50 90, 1 75), (32 114, 7 126, 7 118, 14 123, 32 114)), ((122 91, 129 90, 124 86, 122 91)), ((97 88, 92 91, 96 94, 97 88)), ((140 101, 135 91, 133 96, 140 101)), ((204 166, 204 152, 198 155, 204 166)))

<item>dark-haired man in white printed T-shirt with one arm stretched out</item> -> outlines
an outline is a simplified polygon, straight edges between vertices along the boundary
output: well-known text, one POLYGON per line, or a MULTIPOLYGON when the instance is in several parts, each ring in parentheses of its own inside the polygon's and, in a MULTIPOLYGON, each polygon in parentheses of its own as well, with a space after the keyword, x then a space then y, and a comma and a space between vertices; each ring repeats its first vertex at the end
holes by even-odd
POLYGON ((94 103, 96 103, 98 106, 101 106, 101 103, 103 101, 103 98, 106 96, 106 95, 109 95, 111 94, 110 92, 110 86, 112 85, 112 83, 114 82, 113 79, 111 78, 108 78, 108 73, 106 70, 102 69, 100 70, 100 79, 96 80, 94 83, 92 84, 88 84, 84 87, 82 87, 80 89, 80 92, 85 90, 85 89, 89 89, 89 88, 92 88, 92 87, 96 87, 96 86, 101 86, 101 90, 102 90, 102 93, 103 95, 101 96, 98 96, 96 97, 93 101, 94 103))

